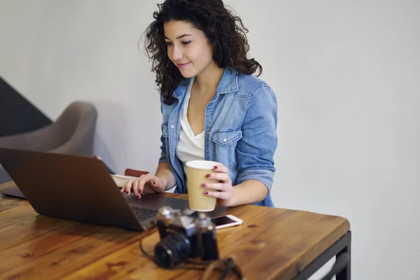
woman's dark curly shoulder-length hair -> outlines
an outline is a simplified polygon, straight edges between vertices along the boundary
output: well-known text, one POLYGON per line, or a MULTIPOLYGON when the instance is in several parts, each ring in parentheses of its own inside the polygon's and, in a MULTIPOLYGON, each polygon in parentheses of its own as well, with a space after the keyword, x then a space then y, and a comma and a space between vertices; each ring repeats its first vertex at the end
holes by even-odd
POLYGON ((241 18, 225 8, 222 0, 166 0, 153 13, 155 20, 145 31, 145 48, 156 83, 165 104, 173 104, 172 92, 185 78, 168 57, 163 24, 171 20, 186 21, 204 32, 213 47, 213 59, 220 68, 237 69, 239 73, 262 73, 255 59, 246 58, 249 50, 241 18))

